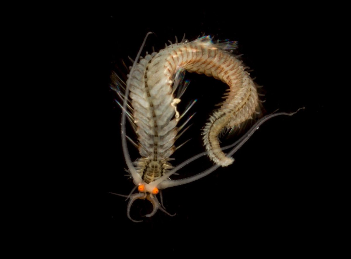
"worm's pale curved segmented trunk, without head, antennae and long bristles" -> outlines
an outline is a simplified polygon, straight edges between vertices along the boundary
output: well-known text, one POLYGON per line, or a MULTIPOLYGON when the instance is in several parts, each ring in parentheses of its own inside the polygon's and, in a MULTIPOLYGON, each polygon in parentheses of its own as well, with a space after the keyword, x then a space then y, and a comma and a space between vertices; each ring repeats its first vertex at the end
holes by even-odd
POLYGON ((233 159, 220 150, 218 134, 225 127, 236 127, 251 118, 258 107, 256 87, 241 61, 221 45, 213 44, 209 37, 176 43, 141 59, 129 80, 139 151, 145 157, 134 164, 147 183, 171 168, 167 161, 174 152, 177 134, 177 121, 171 120, 172 77, 179 69, 213 76, 230 87, 226 100, 210 117, 203 132, 209 157, 221 166, 231 164, 233 159))

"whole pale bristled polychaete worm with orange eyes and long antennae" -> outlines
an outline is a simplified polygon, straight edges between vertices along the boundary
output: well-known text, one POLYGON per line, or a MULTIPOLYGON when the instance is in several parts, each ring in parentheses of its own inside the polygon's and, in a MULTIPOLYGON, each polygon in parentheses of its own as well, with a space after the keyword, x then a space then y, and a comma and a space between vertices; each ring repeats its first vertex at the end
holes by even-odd
POLYGON ((237 42, 214 43, 210 36, 203 36, 194 41, 183 38, 180 42, 176 38, 176 43, 166 46, 158 53, 146 53, 145 57, 141 57, 149 34, 151 33, 146 35, 130 68, 128 80, 123 82, 117 74, 113 74, 113 89, 121 98, 121 103, 118 103, 122 108, 122 149, 128 172, 135 184, 130 195, 113 194, 129 199, 127 217, 134 222, 142 221, 134 220, 130 216, 132 204, 136 199, 147 199, 153 205, 152 212, 145 217, 152 217, 157 210, 173 216, 159 203, 157 194, 160 190, 193 182, 220 166, 232 164, 232 155, 261 124, 275 116, 291 116, 297 112, 273 113, 262 117, 238 141, 221 148, 218 140, 221 132, 234 131, 261 113, 256 86, 245 70, 246 67, 231 53, 236 49, 237 42), (174 159, 170 157, 177 149, 174 142, 184 132, 184 127, 192 116, 180 127, 177 127, 178 121, 195 103, 192 102, 182 114, 177 110, 177 104, 188 86, 188 81, 184 80, 185 71, 219 79, 229 86, 229 91, 225 94, 220 108, 212 113, 203 129, 206 151, 173 167, 170 161, 174 159), (138 136, 137 142, 126 135, 126 119, 130 121, 138 136), (127 139, 139 150, 141 158, 137 161, 132 162, 130 158, 127 139), (225 154, 223 151, 227 149, 231 150, 225 154), (211 168, 183 179, 169 178, 183 166, 204 155, 214 162, 211 168), (137 193, 133 193, 135 189, 138 189, 137 193))

